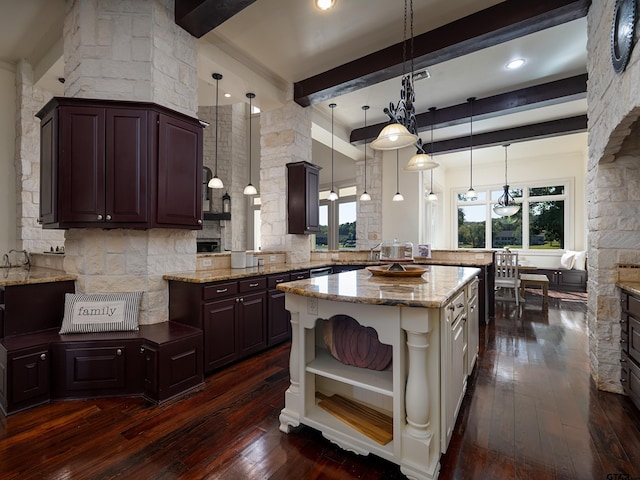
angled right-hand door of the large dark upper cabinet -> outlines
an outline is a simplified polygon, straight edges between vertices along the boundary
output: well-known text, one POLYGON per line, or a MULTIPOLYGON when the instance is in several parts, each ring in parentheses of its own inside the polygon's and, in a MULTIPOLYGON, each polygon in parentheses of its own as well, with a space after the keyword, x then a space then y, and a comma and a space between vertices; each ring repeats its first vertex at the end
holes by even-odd
POLYGON ((202 225, 202 127, 158 115, 157 221, 202 225))

